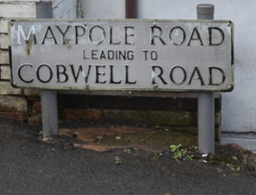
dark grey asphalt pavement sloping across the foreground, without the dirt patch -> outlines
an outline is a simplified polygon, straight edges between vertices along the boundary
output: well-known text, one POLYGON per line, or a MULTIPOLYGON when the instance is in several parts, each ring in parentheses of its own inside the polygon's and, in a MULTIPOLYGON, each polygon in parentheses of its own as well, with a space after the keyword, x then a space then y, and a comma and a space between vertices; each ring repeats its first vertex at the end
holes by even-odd
POLYGON ((176 161, 168 152, 158 158, 142 149, 80 149, 67 136, 47 143, 40 130, 0 118, 1 195, 256 194, 253 171, 176 161))

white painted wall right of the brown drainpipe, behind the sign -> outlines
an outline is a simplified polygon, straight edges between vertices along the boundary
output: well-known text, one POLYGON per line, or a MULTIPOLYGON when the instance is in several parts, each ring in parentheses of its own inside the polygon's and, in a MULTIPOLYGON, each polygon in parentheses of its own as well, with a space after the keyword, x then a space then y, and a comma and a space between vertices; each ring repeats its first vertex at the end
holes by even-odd
POLYGON ((200 3, 215 5, 215 19, 235 26, 233 92, 222 94, 222 143, 238 143, 256 152, 256 1, 138 0, 138 17, 196 19, 200 3))

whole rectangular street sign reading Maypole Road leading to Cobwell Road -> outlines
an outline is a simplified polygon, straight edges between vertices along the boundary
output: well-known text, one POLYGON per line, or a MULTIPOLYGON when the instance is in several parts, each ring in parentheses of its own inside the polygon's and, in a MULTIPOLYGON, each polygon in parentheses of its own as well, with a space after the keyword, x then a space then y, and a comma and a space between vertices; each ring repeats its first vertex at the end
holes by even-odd
POLYGON ((9 47, 15 87, 233 89, 226 20, 10 20, 9 47))

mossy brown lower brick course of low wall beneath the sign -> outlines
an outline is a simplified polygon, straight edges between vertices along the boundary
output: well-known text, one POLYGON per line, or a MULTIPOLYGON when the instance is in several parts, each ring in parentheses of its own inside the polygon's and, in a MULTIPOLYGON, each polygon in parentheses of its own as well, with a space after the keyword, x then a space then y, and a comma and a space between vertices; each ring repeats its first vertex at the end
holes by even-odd
MULTIPOLYGON (((138 111, 113 109, 62 109, 64 120, 82 120, 94 123, 117 123, 138 126, 157 126, 175 132, 198 134, 196 112, 138 111)), ((215 113, 215 139, 220 140, 220 113, 215 113)))

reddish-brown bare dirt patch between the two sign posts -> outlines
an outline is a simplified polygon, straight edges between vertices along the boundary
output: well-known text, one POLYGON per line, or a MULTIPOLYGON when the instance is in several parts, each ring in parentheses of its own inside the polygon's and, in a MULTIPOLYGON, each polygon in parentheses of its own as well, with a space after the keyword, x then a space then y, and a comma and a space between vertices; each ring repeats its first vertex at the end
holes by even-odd
POLYGON ((106 152, 114 148, 144 149, 153 152, 168 150, 171 143, 197 144, 192 135, 180 136, 170 129, 152 129, 134 126, 84 127, 59 129, 60 135, 73 137, 84 143, 76 146, 106 152))

